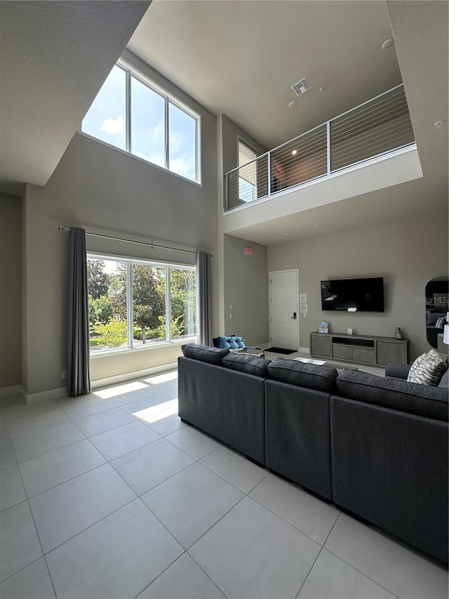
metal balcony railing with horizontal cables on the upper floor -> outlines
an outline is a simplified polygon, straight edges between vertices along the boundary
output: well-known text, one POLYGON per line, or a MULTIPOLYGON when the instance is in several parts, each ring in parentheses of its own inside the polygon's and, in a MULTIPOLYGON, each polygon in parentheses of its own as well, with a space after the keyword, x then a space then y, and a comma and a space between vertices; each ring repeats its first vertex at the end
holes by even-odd
POLYGON ((225 210, 415 142, 403 84, 225 174, 225 210))

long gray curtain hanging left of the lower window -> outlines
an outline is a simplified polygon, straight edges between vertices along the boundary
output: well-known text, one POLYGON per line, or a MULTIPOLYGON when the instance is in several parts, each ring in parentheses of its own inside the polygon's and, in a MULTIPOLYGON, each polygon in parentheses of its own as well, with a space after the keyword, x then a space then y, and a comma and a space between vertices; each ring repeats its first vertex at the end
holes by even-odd
POLYGON ((91 390, 89 359, 89 302, 86 231, 70 229, 67 390, 81 395, 91 390))

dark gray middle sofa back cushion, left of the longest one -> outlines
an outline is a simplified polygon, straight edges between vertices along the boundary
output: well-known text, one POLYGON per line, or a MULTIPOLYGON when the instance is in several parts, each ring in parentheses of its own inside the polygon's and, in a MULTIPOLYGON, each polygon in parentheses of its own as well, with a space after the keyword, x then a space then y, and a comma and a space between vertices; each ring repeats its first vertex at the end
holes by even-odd
POLYGON ((328 366, 304 364, 298 360, 276 357, 268 367, 269 376, 282 383, 333 393, 337 371, 328 366))

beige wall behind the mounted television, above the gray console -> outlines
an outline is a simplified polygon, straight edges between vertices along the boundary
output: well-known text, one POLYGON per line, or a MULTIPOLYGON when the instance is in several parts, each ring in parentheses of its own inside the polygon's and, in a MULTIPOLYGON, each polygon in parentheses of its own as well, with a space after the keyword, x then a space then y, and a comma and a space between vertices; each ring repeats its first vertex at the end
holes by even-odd
POLYGON ((424 297, 429 279, 448 273, 447 213, 302 239, 268 248, 269 270, 299 268, 300 292, 309 312, 300 316, 300 345, 322 320, 330 332, 351 327, 354 334, 394 336, 401 327, 410 339, 410 358, 429 350, 424 297), (347 314, 321 310, 320 282, 326 279, 384 277, 385 312, 347 314))

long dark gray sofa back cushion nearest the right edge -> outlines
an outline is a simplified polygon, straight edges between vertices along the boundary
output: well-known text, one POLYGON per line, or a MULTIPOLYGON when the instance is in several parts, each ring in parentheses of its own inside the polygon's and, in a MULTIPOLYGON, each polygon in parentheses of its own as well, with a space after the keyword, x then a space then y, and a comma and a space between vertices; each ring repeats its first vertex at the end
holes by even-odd
POLYGON ((448 392, 444 388, 416 385, 358 370, 343 370, 335 383, 339 395, 350 400, 427 418, 448 419, 448 392))

